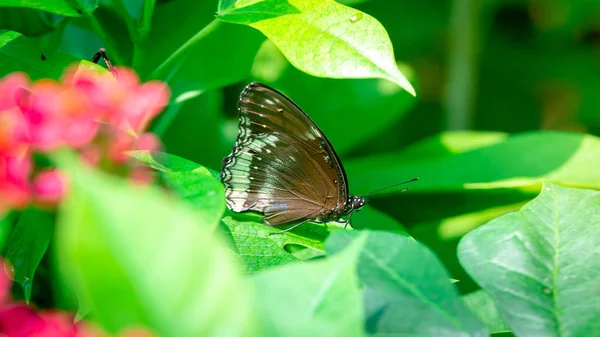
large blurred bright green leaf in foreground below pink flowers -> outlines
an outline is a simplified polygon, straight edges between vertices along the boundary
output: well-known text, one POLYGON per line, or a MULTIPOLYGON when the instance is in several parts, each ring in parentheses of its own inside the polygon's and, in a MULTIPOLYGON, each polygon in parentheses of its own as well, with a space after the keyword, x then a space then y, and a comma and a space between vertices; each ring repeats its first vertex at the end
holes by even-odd
POLYGON ((62 276, 110 333, 254 336, 250 292, 221 239, 188 207, 64 158, 71 190, 58 220, 62 276))

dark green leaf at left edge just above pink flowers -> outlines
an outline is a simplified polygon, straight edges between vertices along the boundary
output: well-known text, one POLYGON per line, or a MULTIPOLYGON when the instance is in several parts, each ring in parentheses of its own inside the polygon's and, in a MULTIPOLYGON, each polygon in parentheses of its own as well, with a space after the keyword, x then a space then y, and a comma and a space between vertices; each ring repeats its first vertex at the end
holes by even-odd
POLYGON ((58 52, 43 51, 19 33, 0 32, 0 76, 22 71, 32 79, 59 79, 67 67, 74 65, 102 69, 92 62, 81 61, 58 52))

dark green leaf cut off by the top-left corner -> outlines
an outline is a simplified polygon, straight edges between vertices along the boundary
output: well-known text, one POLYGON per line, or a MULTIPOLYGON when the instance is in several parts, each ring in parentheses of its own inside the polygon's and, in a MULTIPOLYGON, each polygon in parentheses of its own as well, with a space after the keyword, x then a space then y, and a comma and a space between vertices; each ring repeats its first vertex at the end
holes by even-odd
POLYGON ((90 14, 98 7, 99 0, 1 0, 0 7, 26 7, 64 16, 90 14))

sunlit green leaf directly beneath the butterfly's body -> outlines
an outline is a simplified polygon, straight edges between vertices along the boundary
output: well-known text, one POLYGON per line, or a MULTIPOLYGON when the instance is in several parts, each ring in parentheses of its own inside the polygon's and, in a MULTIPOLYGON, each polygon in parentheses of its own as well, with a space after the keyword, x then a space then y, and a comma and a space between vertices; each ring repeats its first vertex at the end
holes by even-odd
POLYGON ((323 225, 305 223, 293 231, 271 235, 282 229, 266 226, 256 214, 225 216, 222 223, 236 254, 250 272, 299 261, 284 249, 286 245, 305 247, 311 253, 303 252, 304 256, 324 255, 323 241, 328 232, 323 225))

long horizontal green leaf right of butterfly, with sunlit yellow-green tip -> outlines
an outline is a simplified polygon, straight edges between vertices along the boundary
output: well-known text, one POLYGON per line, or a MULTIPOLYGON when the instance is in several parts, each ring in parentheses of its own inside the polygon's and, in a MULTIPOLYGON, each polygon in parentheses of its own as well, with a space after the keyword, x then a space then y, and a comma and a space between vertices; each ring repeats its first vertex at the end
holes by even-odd
POLYGON ((345 168, 352 188, 358 191, 412 177, 420 180, 411 184, 409 193, 500 188, 537 191, 540 178, 600 188, 600 170, 595 169, 600 166, 599 152, 597 137, 536 131, 440 158, 403 161, 402 153, 386 154, 347 160, 345 168))

